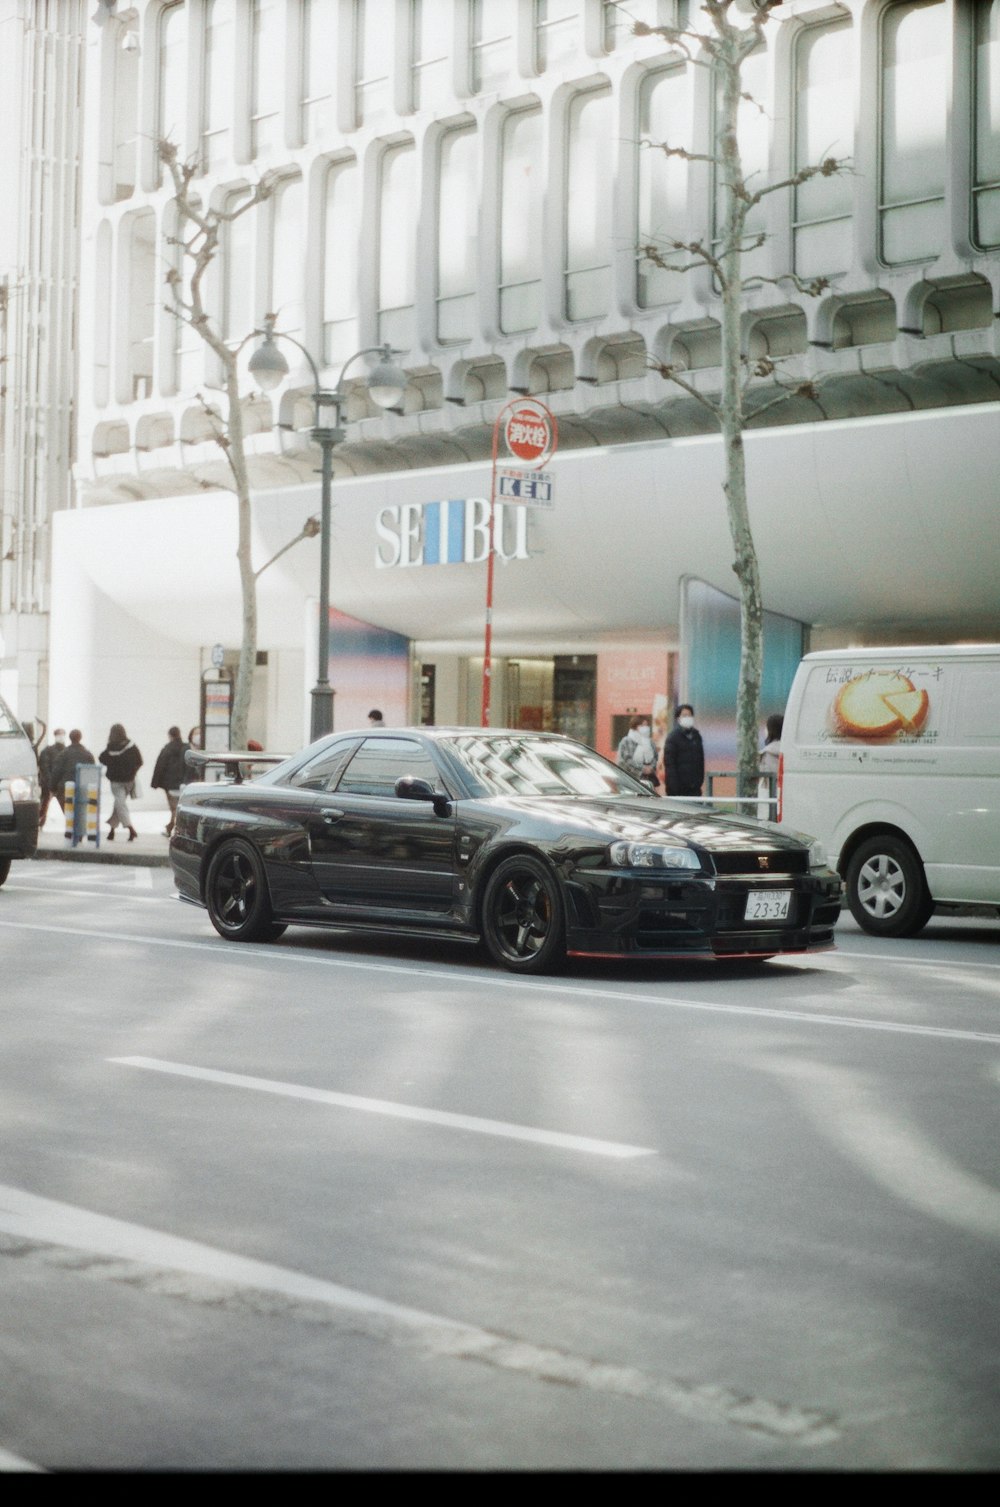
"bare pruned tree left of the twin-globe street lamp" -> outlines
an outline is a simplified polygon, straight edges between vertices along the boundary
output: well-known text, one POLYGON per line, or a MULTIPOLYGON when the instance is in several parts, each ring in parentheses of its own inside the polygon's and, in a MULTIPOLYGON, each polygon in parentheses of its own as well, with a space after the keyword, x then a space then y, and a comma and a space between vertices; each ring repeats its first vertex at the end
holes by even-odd
MULTIPOLYGON (((236 562, 239 567, 239 591, 242 598, 242 633, 236 684, 233 687, 230 741, 233 747, 242 749, 247 746, 247 719, 253 692, 253 669, 258 659, 258 579, 268 565, 273 565, 280 555, 285 555, 300 540, 313 538, 319 532, 319 520, 307 518, 294 540, 289 540, 277 555, 273 555, 270 561, 265 561, 264 565, 255 570, 252 556, 250 478, 238 386, 238 360, 245 341, 241 345, 230 347, 223 339, 221 330, 212 322, 205 306, 205 279, 218 253, 226 226, 232 225, 241 216, 250 214, 258 205, 270 199, 276 184, 273 178, 264 176, 253 188, 247 190, 245 197, 235 208, 203 208, 193 188, 193 181, 197 176, 197 164, 179 161, 178 149, 169 140, 160 140, 157 151, 173 181, 178 209, 178 235, 170 238, 167 244, 178 247, 181 252, 181 267, 173 265, 166 274, 172 298, 167 310, 176 319, 188 324, 214 353, 226 390, 224 419, 215 404, 209 402, 203 393, 197 396, 211 425, 212 437, 226 457, 236 494, 236 562)), ((247 332, 247 335, 250 333, 256 332, 247 332)))

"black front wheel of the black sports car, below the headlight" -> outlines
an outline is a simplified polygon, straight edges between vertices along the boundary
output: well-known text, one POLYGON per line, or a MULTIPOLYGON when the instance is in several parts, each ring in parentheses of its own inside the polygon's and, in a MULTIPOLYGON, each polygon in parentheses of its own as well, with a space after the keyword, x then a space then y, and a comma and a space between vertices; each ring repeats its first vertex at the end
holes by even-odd
POLYGON ((544 974, 566 957, 566 922, 556 876, 529 853, 498 864, 486 880, 482 934, 489 955, 514 974, 544 974))

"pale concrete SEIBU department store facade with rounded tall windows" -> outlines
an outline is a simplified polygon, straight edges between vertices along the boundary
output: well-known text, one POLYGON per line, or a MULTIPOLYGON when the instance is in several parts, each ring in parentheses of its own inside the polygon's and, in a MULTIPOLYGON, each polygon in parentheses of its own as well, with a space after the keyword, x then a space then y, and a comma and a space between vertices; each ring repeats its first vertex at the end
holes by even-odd
MULTIPOLYGON (((494 425, 517 395, 559 449, 551 505, 497 520, 492 720, 605 752, 681 693, 724 723, 735 577, 697 401, 718 392, 718 298, 708 270, 643 250, 717 235, 715 80, 633 29, 687 11, 101 0, 54 717, 152 744, 199 719, 212 653, 239 642, 220 372, 166 285, 167 139, 206 206, 273 188, 205 285, 244 360, 274 313, 324 384, 386 342, 407 372, 387 414, 348 386, 334 451, 334 725, 370 704, 479 720, 494 425)), ((806 642, 1000 637, 1000 5, 794 0, 765 38, 741 145, 752 182, 786 184, 755 211, 744 315, 768 711, 806 642), (824 157, 849 166, 794 182, 824 157)), ((318 509, 313 378, 286 354, 276 393, 244 386, 258 568, 318 509)), ((259 576, 252 735, 271 747, 307 726, 318 579, 316 540, 259 576)))

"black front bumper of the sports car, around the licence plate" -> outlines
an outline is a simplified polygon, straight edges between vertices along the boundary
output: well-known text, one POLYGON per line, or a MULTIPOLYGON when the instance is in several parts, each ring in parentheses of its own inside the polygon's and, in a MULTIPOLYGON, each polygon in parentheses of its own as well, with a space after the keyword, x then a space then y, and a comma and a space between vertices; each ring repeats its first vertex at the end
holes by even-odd
POLYGON ((590 871, 568 885, 574 957, 773 957, 833 946, 842 883, 822 870, 649 879, 590 871), (744 919, 750 891, 791 891, 786 921, 744 919))

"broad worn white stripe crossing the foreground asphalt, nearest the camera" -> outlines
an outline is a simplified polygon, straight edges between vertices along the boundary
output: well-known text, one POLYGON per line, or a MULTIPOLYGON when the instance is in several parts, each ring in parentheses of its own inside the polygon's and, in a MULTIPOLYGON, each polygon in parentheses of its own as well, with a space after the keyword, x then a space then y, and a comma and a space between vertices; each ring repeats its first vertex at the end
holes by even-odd
MULTIPOLYGON (((145 1278, 146 1287, 157 1295, 218 1307, 230 1295, 252 1299, 255 1293, 280 1293, 292 1301, 292 1311, 298 1307, 310 1314, 318 1308, 334 1314, 348 1313, 354 1316, 352 1326, 367 1323, 375 1334, 390 1326, 437 1358, 477 1361, 541 1383, 556 1382, 605 1397, 652 1402, 709 1426, 729 1424, 788 1444, 815 1447, 840 1436, 839 1421, 818 1409, 747 1395, 714 1382, 651 1376, 633 1365, 610 1365, 586 1355, 532 1344, 529 1340, 479 1329, 351 1287, 304 1276, 288 1267, 218 1251, 197 1240, 38 1198, 18 1188, 0 1186, 0 1231, 35 1246, 63 1246, 93 1254, 98 1260, 89 1269, 77 1267, 84 1275, 123 1281, 133 1288, 142 1285, 145 1278), (199 1281, 178 1281, 176 1273, 188 1273, 199 1281)), ((21 1251, 20 1258, 26 1260, 29 1254, 21 1251)), ((250 1308, 253 1310, 252 1302, 250 1308)))

